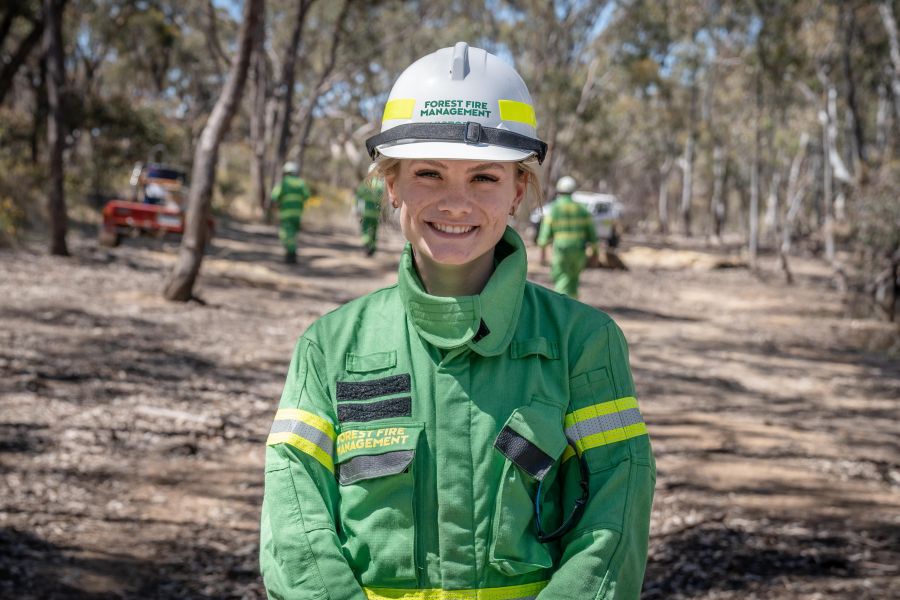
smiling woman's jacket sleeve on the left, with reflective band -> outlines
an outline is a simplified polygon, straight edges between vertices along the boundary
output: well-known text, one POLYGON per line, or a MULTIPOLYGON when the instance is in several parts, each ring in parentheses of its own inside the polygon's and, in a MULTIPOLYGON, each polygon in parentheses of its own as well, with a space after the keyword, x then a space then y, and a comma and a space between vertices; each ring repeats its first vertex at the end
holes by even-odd
POLYGON ((317 366, 324 357, 301 338, 266 441, 260 569, 269 598, 365 600, 335 527, 334 423, 317 366))

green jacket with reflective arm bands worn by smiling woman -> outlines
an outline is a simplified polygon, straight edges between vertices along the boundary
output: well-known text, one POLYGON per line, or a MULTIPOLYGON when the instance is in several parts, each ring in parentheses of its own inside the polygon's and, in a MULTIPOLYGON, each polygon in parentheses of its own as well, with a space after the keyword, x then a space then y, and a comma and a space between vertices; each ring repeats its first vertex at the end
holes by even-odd
POLYGON ((270 598, 638 598, 656 471, 625 339, 525 275, 507 229, 480 295, 431 296, 407 246, 396 285, 300 338, 266 448, 270 598), (539 542, 538 488, 549 532, 582 464, 583 516, 539 542))

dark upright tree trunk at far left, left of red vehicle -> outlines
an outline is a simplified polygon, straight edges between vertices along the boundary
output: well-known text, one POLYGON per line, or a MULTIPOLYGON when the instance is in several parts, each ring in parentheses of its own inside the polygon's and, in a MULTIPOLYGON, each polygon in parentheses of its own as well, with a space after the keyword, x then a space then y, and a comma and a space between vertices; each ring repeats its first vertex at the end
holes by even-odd
POLYGON ((62 19, 65 0, 44 0, 44 48, 47 60, 47 152, 49 190, 47 216, 50 219, 50 254, 68 256, 68 223, 63 189, 63 149, 66 142, 62 98, 66 83, 63 57, 62 19))

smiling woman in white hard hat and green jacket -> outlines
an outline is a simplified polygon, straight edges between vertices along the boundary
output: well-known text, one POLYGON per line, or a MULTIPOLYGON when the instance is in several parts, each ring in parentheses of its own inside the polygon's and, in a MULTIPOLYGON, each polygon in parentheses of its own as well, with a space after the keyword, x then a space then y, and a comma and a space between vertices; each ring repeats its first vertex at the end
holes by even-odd
POLYGON ((300 338, 267 440, 271 598, 637 598, 656 477, 604 313, 526 281, 531 96, 458 43, 367 140, 408 244, 397 284, 300 338))

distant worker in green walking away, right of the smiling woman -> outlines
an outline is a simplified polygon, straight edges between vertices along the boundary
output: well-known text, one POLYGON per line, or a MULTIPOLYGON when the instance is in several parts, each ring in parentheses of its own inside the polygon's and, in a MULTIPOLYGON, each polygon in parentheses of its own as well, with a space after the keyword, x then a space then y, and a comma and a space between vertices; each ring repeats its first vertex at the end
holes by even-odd
POLYGON ((592 256, 598 256, 594 219, 585 207, 572 199, 576 187, 575 180, 568 175, 556 182, 558 195, 541 222, 537 242, 544 265, 547 264, 547 246, 553 242, 550 276, 556 291, 572 298, 578 297, 578 280, 587 262, 585 249, 590 246, 592 256))

